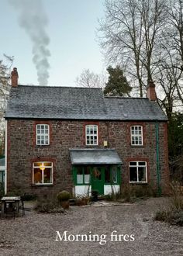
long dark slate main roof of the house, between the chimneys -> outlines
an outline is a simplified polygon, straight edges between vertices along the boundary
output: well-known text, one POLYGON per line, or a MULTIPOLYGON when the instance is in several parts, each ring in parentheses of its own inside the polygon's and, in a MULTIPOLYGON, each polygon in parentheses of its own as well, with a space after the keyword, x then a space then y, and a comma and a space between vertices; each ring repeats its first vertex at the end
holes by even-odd
POLYGON ((11 88, 5 119, 167 120, 157 102, 105 98, 101 88, 19 85, 11 88))

